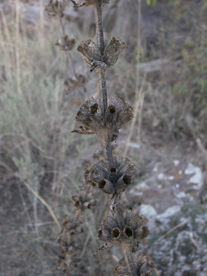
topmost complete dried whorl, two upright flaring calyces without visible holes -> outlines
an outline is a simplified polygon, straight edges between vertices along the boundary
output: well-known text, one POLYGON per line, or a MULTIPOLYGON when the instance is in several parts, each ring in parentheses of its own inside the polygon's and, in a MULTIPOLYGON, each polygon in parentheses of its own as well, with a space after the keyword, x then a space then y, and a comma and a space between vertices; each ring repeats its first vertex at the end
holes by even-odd
POLYGON ((119 37, 112 37, 107 46, 107 36, 104 33, 104 41, 106 44, 104 54, 101 55, 100 48, 90 38, 83 40, 77 48, 86 63, 91 66, 90 72, 99 67, 104 67, 105 70, 113 66, 119 57, 119 54, 127 47, 119 37))

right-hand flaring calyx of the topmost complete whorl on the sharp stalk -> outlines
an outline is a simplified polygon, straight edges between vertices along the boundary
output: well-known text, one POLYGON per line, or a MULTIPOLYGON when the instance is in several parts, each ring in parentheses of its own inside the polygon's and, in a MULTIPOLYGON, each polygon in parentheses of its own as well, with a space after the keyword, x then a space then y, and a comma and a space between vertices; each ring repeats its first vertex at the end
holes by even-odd
POLYGON ((127 47, 127 44, 124 43, 118 36, 117 38, 112 37, 108 46, 104 51, 104 62, 107 67, 113 66, 119 57, 119 54, 127 47))

